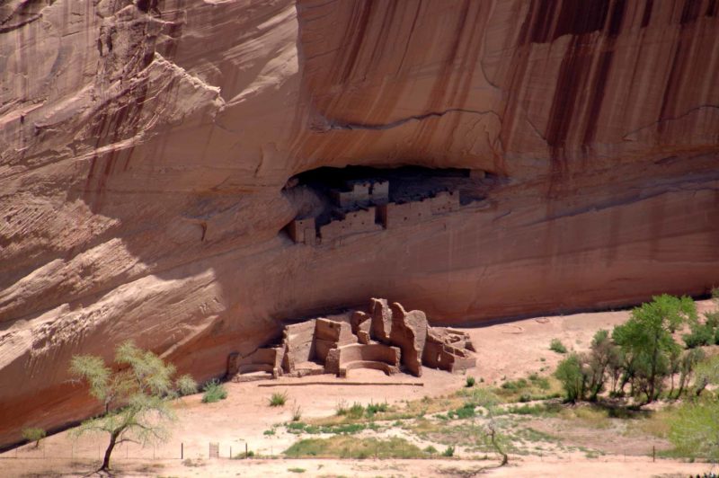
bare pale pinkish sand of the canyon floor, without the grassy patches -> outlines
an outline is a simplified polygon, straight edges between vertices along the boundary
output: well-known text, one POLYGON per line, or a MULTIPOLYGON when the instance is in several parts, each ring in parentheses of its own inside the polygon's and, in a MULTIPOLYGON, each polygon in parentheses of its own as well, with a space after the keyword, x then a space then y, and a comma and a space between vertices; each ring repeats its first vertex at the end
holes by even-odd
MULTIPOLYGON (((709 301, 700 302, 700 310, 708 310, 709 301)), ((623 323, 627 311, 537 317, 512 323, 464 328, 472 336, 478 350, 478 363, 467 375, 486 384, 527 376, 528 373, 548 374, 562 356, 548 350, 549 342, 558 338, 570 349, 584 350, 594 332, 623 323)), ((252 459, 230 460, 229 456, 244 452, 245 447, 262 456, 280 456, 297 440, 296 435, 266 435, 273 425, 288 421, 296 408, 303 420, 333 415, 339 403, 401 403, 423 396, 449 394, 465 382, 463 375, 424 369, 421 378, 384 376, 375 370, 353 370, 351 381, 371 381, 387 385, 342 385, 342 379, 313 376, 302 379, 283 378, 277 381, 226 384, 229 396, 220 403, 200 403, 200 394, 185 397, 177 404, 178 422, 173 436, 155 447, 140 448, 135 444, 121 445, 115 453, 119 474, 156 476, 260 476, 293 474, 289 468, 306 470, 305 475, 347 476, 431 476, 468 475, 491 466, 492 461, 447 460, 328 460, 328 459, 252 459), (329 382, 328 385, 299 385, 309 381, 329 382), (397 383, 416 385, 396 385, 397 383), (279 386, 262 387, 261 384, 279 386), (288 403, 281 408, 268 406, 273 392, 288 394, 288 403), (219 459, 209 459, 209 443, 219 446, 219 459), (200 466, 188 466, 181 460, 191 459, 200 466), (460 473, 460 470, 468 470, 460 473)), ((0 455, 0 476, 48 475, 53 473, 82 475, 93 469, 101 456, 106 438, 73 439, 68 432, 46 438, 40 448, 20 447, 0 455)), ((461 458, 461 456, 459 457, 461 458)), ((658 474, 697 474, 709 470, 708 465, 657 460, 643 456, 606 455, 588 458, 581 454, 565 454, 540 458, 518 456, 510 467, 485 470, 485 473, 521 476, 651 476, 658 474), (626 461, 628 460, 628 461, 626 461)), ((299 475, 299 474, 297 474, 299 475)))

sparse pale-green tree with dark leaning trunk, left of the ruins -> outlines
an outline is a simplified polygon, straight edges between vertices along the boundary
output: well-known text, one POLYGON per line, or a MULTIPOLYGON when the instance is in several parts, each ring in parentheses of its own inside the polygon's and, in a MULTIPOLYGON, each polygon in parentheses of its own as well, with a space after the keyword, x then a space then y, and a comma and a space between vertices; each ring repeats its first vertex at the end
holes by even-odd
POLYGON ((90 394, 100 403, 101 416, 85 420, 75 429, 75 437, 88 432, 108 433, 100 470, 110 469, 114 447, 131 441, 145 446, 169 436, 167 423, 174 420, 170 400, 197 391, 191 376, 173 380, 175 367, 165 364, 154 353, 138 349, 132 341, 122 343, 115 351, 113 371, 100 357, 76 355, 70 372, 90 386, 90 394))

